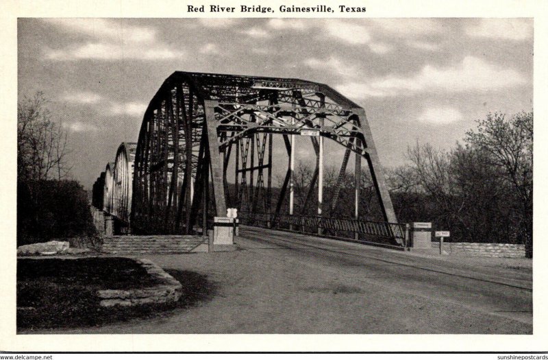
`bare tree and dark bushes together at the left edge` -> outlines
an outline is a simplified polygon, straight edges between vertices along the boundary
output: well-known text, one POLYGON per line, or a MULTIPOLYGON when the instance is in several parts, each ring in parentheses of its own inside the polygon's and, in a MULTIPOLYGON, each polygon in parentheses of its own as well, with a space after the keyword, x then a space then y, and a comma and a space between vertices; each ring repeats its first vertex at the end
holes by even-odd
POLYGON ((69 179, 68 136, 43 93, 17 106, 17 243, 92 237, 87 193, 69 179))

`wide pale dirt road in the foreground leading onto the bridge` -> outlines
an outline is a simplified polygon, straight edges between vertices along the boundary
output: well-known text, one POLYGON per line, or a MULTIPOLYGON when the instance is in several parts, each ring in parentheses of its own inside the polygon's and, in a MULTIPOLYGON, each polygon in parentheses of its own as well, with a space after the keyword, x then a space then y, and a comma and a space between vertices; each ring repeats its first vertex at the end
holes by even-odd
POLYGON ((527 259, 463 260, 242 229, 235 252, 147 256, 216 296, 152 320, 62 333, 532 333, 527 259))

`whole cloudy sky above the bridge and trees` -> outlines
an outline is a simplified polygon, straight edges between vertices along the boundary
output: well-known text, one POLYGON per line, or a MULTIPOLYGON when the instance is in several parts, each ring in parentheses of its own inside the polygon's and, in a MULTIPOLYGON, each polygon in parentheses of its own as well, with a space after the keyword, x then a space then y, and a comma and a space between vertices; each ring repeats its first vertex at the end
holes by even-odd
POLYGON ((173 71, 298 77, 362 105, 384 166, 533 108, 532 19, 19 19, 18 97, 43 91, 90 187, 173 71))

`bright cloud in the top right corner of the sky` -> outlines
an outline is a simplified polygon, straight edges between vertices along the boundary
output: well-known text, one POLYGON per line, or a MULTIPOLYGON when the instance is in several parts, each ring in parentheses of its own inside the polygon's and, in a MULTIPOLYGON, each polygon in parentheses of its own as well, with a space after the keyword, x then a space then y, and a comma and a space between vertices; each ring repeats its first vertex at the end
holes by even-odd
POLYGON ((532 19, 481 19, 464 27, 471 37, 527 40, 533 38, 532 19))

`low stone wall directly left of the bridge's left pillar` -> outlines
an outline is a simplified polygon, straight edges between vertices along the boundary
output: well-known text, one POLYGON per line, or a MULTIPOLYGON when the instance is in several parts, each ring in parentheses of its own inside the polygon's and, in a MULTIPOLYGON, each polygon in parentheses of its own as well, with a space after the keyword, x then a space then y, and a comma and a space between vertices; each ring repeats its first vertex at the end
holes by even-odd
POLYGON ((201 235, 114 235, 103 237, 101 251, 110 254, 173 254, 207 252, 201 235))

